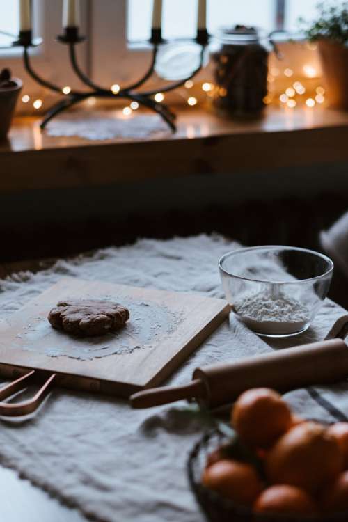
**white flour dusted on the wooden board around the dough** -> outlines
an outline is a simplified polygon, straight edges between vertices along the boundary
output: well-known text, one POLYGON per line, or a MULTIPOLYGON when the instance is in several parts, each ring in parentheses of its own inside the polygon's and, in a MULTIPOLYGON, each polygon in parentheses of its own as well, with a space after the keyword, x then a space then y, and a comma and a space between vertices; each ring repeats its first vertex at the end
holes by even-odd
MULTIPOLYGON (((102 299, 115 301, 110 296, 102 299)), ((74 338, 63 331, 53 329, 46 318, 38 317, 30 324, 26 324, 17 338, 21 340, 21 347, 24 350, 35 351, 49 357, 65 356, 88 361, 111 355, 131 354, 137 349, 152 348, 173 333, 183 320, 180 313, 173 313, 166 306, 159 306, 152 301, 136 302, 122 297, 122 306, 129 309, 130 319, 115 333, 107 333, 100 337, 74 338), (47 344, 43 343, 42 346, 45 338, 47 344)))

